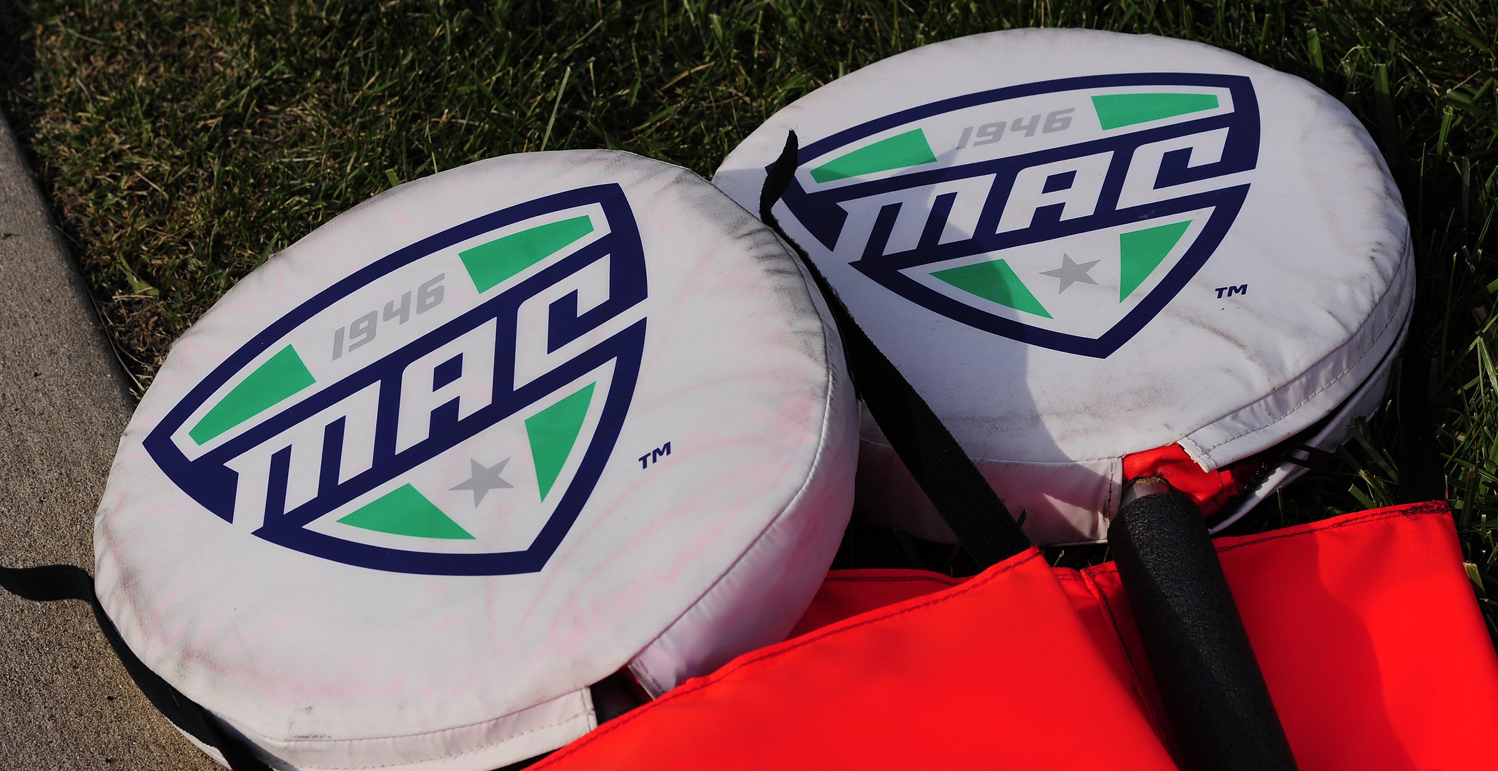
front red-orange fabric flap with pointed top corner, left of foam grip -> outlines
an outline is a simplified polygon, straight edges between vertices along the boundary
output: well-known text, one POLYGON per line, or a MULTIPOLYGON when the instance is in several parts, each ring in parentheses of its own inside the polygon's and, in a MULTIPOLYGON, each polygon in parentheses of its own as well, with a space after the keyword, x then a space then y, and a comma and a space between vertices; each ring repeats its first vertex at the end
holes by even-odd
POLYGON ((740 656, 530 768, 1174 765, 1029 549, 959 587, 740 656))

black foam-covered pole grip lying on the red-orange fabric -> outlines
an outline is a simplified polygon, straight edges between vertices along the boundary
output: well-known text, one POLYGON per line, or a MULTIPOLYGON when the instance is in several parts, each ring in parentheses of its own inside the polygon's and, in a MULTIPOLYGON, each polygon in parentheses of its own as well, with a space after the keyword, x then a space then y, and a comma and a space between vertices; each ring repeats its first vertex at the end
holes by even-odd
POLYGON ((1201 512, 1177 493, 1125 503, 1109 546, 1185 771, 1293 771, 1294 756, 1201 512))

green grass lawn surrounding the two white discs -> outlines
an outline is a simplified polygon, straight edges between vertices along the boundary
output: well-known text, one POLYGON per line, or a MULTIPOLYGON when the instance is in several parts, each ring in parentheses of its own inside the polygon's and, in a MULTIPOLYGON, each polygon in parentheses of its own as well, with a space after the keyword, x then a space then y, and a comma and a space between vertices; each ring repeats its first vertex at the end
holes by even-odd
MULTIPOLYGON (((1029 25, 1209 42, 1311 79, 1368 124, 1413 223, 1422 284, 1411 344, 1434 359, 1432 454, 1498 632, 1492 0, 22 0, 0 10, 0 103, 142 389, 171 340, 238 277, 401 180, 577 147, 707 175, 773 111, 842 73, 1029 25)), ((1341 470, 1294 485, 1243 527, 1390 503, 1396 418, 1381 413, 1341 470)), ((954 569, 906 546, 851 539, 843 560, 954 569)))

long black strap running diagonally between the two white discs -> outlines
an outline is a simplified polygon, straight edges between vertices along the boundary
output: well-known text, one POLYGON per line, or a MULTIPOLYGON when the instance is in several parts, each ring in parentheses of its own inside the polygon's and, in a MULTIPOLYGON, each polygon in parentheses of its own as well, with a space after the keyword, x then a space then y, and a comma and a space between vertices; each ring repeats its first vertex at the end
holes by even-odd
POLYGON ((798 165, 797 151, 795 132, 791 132, 759 193, 759 220, 795 250, 795 256, 806 265, 827 299, 837 331, 842 332, 848 370, 860 398, 974 561, 987 567, 1025 551, 1029 548, 1029 539, 989 487, 989 481, 978 473, 978 467, 968 458, 962 445, 953 439, 926 400, 911 388, 909 380, 873 344, 873 340, 869 340, 822 271, 774 219, 771 208, 791 186, 798 165))

